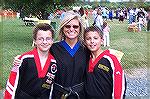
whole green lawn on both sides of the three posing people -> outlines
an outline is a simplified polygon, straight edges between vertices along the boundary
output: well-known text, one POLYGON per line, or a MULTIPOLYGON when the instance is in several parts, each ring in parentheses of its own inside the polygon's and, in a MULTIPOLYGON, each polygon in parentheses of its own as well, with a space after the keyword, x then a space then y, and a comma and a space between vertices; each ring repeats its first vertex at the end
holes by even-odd
MULTIPOLYGON (((89 21, 92 24, 92 19, 89 21)), ((118 20, 114 20, 113 22, 109 21, 109 24, 111 28, 110 48, 124 52, 122 58, 123 68, 131 69, 148 66, 150 57, 148 38, 150 33, 145 30, 139 33, 128 32, 127 21, 119 23, 118 20)), ((0 34, 0 85, 2 85, 2 88, 5 88, 14 57, 32 49, 32 28, 25 26, 21 20, 14 18, 3 19, 0 22, 0 29, 2 29, 0 34)), ((56 28, 56 30, 58 29, 56 28)))

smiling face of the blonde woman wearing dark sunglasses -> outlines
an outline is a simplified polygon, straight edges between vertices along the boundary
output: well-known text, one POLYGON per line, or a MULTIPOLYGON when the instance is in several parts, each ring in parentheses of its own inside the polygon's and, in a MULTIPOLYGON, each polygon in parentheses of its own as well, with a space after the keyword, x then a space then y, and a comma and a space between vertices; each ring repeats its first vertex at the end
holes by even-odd
POLYGON ((77 19, 71 20, 63 28, 65 39, 77 39, 80 33, 80 25, 77 19))

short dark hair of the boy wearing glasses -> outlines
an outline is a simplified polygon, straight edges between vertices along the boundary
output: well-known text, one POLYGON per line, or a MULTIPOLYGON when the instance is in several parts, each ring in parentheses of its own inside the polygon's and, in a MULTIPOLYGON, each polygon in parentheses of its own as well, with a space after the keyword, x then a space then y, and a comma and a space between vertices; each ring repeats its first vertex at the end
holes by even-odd
POLYGON ((48 31, 49 30, 49 31, 51 31, 52 32, 52 38, 54 38, 54 30, 53 30, 53 28, 47 23, 39 23, 33 29, 33 39, 34 40, 36 40, 37 32, 39 30, 43 30, 43 31, 48 31))

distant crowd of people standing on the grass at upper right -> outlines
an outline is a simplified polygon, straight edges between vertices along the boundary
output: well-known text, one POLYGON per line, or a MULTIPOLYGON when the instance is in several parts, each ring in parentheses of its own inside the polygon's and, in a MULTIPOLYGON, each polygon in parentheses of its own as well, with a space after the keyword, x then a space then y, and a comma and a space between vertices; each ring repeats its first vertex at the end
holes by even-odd
POLYGON ((142 31, 143 27, 147 26, 147 31, 149 31, 150 25, 149 25, 149 10, 145 11, 144 8, 118 8, 116 10, 114 9, 108 9, 107 7, 99 7, 95 8, 93 11, 93 17, 97 15, 97 11, 101 9, 101 16, 105 20, 111 20, 118 19, 119 22, 124 22, 124 20, 128 20, 128 24, 135 24, 138 27, 139 31, 142 31))

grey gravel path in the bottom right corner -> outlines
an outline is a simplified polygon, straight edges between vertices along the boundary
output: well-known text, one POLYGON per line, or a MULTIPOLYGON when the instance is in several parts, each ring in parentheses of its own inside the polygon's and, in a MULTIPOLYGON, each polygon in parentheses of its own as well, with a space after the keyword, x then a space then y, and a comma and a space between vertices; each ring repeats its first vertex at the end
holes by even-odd
POLYGON ((126 70, 126 99, 150 99, 150 69, 126 70))

